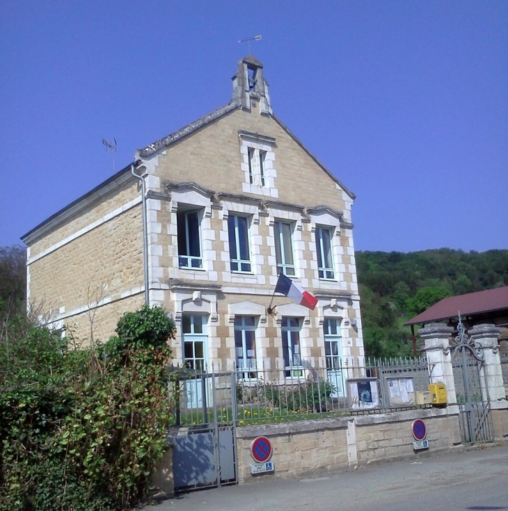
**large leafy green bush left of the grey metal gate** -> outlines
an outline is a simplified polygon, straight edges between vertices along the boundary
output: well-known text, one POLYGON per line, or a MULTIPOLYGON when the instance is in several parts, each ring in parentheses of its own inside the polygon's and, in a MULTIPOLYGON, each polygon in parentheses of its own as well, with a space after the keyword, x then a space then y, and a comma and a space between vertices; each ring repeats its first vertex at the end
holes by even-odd
POLYGON ((79 351, 40 326, 2 339, 0 509, 123 509, 145 494, 164 452, 175 327, 145 306, 116 332, 79 351))

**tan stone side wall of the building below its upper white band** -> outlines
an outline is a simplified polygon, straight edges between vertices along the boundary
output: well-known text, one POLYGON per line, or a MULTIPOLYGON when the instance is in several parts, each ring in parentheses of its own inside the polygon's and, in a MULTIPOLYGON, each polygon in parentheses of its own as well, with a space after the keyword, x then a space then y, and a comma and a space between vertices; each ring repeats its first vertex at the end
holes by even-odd
POLYGON ((95 316, 95 339, 109 339, 120 316, 144 302, 141 205, 29 263, 28 275, 29 303, 51 325, 86 339, 95 316))

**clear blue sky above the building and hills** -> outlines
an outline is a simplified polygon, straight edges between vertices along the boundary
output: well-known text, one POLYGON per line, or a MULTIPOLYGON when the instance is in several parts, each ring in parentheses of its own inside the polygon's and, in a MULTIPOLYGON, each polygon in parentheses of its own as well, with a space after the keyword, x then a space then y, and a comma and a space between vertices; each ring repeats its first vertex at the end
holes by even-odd
POLYGON ((508 248, 507 1, 0 6, 0 246, 230 101, 262 34, 273 109, 357 195, 357 250, 508 248))

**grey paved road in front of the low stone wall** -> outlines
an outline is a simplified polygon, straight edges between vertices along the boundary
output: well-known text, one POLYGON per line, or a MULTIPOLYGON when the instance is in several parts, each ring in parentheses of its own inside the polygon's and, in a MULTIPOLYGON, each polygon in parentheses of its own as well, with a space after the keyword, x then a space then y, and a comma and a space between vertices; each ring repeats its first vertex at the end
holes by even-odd
POLYGON ((150 511, 508 511, 508 448, 184 494, 150 511))

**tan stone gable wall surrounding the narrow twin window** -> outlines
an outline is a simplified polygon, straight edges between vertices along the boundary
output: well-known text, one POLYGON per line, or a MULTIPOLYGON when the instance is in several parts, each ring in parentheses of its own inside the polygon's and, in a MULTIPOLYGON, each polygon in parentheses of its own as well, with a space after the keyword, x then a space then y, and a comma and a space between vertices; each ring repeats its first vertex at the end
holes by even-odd
POLYGON ((157 174, 163 184, 169 180, 194 181, 219 191, 217 185, 220 182, 220 191, 242 193, 245 175, 241 167, 240 130, 276 139, 274 181, 278 200, 304 206, 329 204, 344 210, 344 217, 350 221, 351 198, 342 195, 342 189, 312 156, 272 117, 241 110, 232 111, 208 124, 206 129, 194 131, 154 157, 157 158, 157 174))

